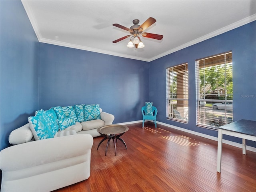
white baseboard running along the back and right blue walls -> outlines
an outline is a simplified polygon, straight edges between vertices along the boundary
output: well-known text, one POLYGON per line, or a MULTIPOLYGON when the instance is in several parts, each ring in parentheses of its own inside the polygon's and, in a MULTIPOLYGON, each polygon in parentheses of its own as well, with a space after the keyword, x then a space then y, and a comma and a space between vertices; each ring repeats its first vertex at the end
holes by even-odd
MULTIPOLYGON (((146 121, 149 121, 149 120, 146 120, 146 121)), ((134 123, 140 123, 140 122, 142 123, 142 120, 131 121, 131 122, 124 122, 124 123, 118 123, 118 124, 120 124, 120 125, 127 125, 127 124, 134 124, 134 123)), ((160 124, 160 125, 164 125, 166 127, 170 127, 170 128, 173 128, 173 129, 184 131, 184 132, 187 132, 187 133, 190 133, 190 134, 198 135, 200 137, 204 137, 204 138, 207 138, 207 139, 210 139, 210 140, 218 141, 218 137, 202 134, 202 133, 191 131, 191 130, 188 130, 188 129, 184 129, 184 128, 181 128, 181 127, 177 127, 177 126, 173 126, 173 125, 170 125, 170 124, 162 123, 162 122, 159 122, 159 121, 157 121, 156 123, 160 124)), ((236 142, 225 140, 225 139, 222 142, 225 143, 225 144, 228 144, 228 145, 231 145, 231 146, 235 146, 235 147, 238 147, 238 148, 242 149, 242 143, 240 144, 240 143, 236 143, 236 142)), ((252 152, 256 152, 256 148, 255 147, 248 146, 248 145, 246 145, 246 150, 249 150, 249 151, 252 151, 252 152)))

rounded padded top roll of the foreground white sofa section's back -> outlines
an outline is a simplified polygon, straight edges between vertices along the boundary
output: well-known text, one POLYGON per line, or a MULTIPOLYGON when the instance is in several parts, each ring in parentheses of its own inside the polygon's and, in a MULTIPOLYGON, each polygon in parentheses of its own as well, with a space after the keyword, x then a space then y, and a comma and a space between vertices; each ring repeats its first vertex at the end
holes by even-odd
POLYGON ((90 152, 92 144, 91 135, 80 134, 10 146, 0 152, 0 169, 21 170, 80 156, 90 152))

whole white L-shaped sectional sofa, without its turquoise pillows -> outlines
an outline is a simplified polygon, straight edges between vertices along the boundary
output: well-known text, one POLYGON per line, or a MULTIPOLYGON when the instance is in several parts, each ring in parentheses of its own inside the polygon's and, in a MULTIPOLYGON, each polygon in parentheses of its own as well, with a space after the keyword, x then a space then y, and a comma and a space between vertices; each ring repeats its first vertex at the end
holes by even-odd
POLYGON ((0 152, 1 192, 47 192, 88 179, 93 137, 100 136, 97 128, 114 121, 112 114, 98 107, 97 119, 80 119, 81 122, 56 131, 48 129, 53 125, 45 116, 46 124, 41 128, 54 134, 44 138, 38 133, 43 129, 35 131, 32 122, 37 114, 42 117, 40 112, 43 110, 29 117, 29 123, 13 130, 9 135, 13 146, 0 152))

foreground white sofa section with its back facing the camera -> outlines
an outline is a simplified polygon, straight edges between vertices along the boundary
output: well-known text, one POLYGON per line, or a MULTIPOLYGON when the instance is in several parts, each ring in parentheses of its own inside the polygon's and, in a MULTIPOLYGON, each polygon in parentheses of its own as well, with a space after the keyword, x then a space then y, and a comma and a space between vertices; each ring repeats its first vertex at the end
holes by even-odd
POLYGON ((0 152, 1 192, 48 192, 90 176, 90 134, 14 145, 0 152))

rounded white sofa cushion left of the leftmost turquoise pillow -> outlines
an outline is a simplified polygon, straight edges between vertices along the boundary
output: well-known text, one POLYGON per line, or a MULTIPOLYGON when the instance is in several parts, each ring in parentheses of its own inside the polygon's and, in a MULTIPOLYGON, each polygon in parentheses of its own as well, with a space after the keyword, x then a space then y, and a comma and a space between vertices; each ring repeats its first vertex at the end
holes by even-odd
POLYGON ((9 143, 13 145, 29 142, 33 138, 33 134, 29 128, 29 124, 13 130, 9 135, 9 143))

